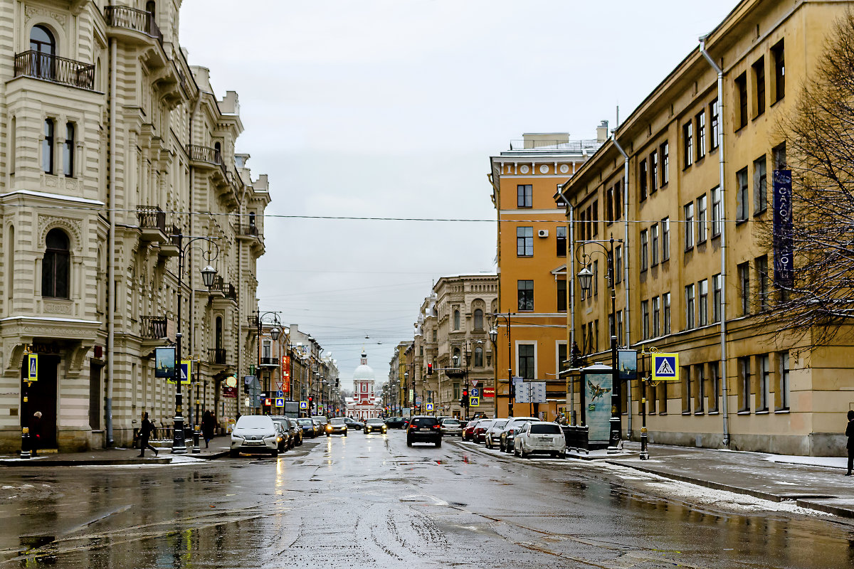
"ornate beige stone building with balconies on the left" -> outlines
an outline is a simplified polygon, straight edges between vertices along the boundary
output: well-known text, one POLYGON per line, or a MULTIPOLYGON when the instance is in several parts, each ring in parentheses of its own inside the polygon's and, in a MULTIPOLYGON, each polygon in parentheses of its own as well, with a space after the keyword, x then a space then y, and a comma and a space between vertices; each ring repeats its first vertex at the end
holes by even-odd
POLYGON ((235 150, 237 94, 217 98, 208 70, 187 64, 179 6, 3 3, 3 451, 20 449, 36 410, 42 445, 59 450, 130 444, 142 412, 171 426, 175 387, 155 378, 153 352, 178 332, 195 382, 184 417, 237 414, 223 380, 254 363, 247 316, 270 194, 235 150))

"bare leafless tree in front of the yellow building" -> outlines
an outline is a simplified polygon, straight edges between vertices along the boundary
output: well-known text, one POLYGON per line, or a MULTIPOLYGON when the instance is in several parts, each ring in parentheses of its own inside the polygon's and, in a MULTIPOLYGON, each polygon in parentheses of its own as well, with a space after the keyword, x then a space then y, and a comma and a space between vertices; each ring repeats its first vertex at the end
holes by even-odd
MULTIPOLYGON (((790 113, 778 122, 792 171, 792 229, 776 228, 772 215, 757 232, 775 251, 791 240, 790 279, 767 277, 776 291, 758 303, 779 334, 831 340, 854 322, 854 13, 834 23, 814 72, 790 113)), ((772 202, 773 203, 773 202, 772 202)), ((773 206, 772 206, 773 210, 773 206)), ((776 253, 776 251, 775 251, 776 253)), ((776 256, 775 261, 781 258, 776 256)))

